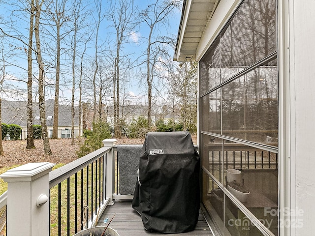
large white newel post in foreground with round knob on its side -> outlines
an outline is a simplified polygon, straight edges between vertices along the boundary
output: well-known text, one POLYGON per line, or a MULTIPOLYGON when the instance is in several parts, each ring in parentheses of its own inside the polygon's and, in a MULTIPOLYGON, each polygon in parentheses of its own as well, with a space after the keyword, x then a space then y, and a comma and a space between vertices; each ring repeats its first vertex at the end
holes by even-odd
POLYGON ((54 165, 29 163, 0 175, 8 183, 8 236, 49 236, 49 172, 54 165))

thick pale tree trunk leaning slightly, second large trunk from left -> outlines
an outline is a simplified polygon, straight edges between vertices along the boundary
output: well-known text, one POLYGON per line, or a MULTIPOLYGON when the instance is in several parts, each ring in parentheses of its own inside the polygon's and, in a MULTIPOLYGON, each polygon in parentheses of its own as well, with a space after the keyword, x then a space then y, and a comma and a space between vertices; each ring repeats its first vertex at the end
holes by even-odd
POLYGON ((39 37, 39 19, 40 12, 43 0, 39 3, 39 0, 35 0, 36 2, 36 14, 35 14, 35 39, 36 39, 36 55, 38 62, 38 100, 39 100, 39 116, 44 144, 44 152, 47 155, 52 154, 49 145, 48 132, 47 132, 47 124, 46 124, 46 111, 45 111, 45 90, 44 90, 44 63, 41 57, 41 48, 40 48, 40 37, 39 37))

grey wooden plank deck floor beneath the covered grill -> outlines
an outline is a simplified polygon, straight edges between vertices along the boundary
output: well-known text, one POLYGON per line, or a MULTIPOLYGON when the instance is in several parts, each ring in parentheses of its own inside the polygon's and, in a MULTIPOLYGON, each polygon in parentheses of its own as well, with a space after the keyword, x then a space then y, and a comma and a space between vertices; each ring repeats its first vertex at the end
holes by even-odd
MULTIPOLYGON (((164 235, 161 233, 150 233, 143 227, 140 215, 131 207, 131 201, 119 201, 113 206, 107 206, 98 221, 99 225, 104 225, 105 218, 112 219, 110 227, 117 230, 120 236, 148 236, 164 235)), ((167 236, 213 236, 202 213, 199 213, 199 220, 196 228, 192 232, 182 234, 167 234, 167 236)))

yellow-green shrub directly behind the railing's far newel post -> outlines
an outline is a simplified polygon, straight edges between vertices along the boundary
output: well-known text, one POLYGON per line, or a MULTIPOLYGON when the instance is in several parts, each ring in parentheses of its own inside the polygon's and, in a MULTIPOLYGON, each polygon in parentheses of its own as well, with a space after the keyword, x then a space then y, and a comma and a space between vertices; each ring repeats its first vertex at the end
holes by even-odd
POLYGON ((93 124, 93 131, 87 136, 87 139, 76 152, 78 157, 85 156, 102 147, 104 139, 111 138, 110 126, 105 122, 97 122, 93 124))

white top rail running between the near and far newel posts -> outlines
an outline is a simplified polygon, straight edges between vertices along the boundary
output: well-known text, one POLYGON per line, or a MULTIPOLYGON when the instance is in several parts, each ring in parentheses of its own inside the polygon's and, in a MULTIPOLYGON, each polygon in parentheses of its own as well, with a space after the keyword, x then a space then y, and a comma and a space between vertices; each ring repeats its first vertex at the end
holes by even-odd
POLYGON ((102 147, 75 161, 72 161, 49 173, 49 188, 61 183, 64 179, 74 175, 84 167, 88 166, 99 157, 108 153, 113 147, 102 147))

